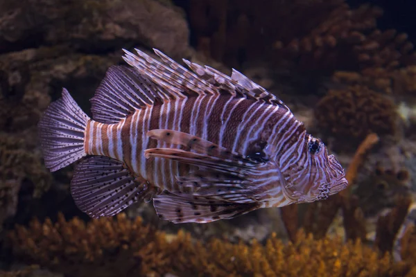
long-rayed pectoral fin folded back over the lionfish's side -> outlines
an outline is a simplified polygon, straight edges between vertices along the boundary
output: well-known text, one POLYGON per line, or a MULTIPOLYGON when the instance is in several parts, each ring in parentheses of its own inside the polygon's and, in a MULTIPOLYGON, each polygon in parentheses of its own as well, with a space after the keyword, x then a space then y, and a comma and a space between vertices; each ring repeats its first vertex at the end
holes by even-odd
MULTIPOLYGON (((169 142, 173 144, 183 141, 180 138, 191 139, 190 135, 185 136, 183 133, 170 133, 167 136, 171 138, 169 142)), ((166 134, 159 137, 166 138, 166 134)), ((180 144, 184 145, 185 143, 180 144)), ((264 178, 263 174, 268 173, 267 170, 265 171, 268 164, 242 157, 240 154, 232 153, 218 145, 216 145, 216 150, 218 150, 216 152, 201 153, 212 144, 198 138, 198 142, 194 144, 198 146, 193 148, 198 152, 191 152, 192 149, 186 151, 177 148, 152 148, 145 151, 145 156, 147 158, 171 159, 196 166, 198 168, 196 172, 176 177, 177 184, 190 188, 193 195, 230 203, 242 204, 259 201, 257 184, 264 178), (223 153, 227 157, 221 157, 223 153)))

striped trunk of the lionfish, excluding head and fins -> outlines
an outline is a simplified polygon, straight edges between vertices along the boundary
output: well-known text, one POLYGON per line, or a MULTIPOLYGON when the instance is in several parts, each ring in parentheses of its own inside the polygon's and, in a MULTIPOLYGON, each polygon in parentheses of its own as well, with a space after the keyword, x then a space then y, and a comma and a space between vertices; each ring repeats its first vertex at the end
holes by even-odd
MULTIPOLYGON (((182 190, 176 177, 187 175, 193 169, 171 159, 146 159, 144 150, 186 147, 151 139, 147 133, 152 129, 185 132, 254 159, 268 157, 271 153, 265 152, 265 146, 273 141, 284 141, 286 136, 287 143, 293 143, 304 136, 301 123, 282 107, 244 98, 203 95, 139 109, 120 123, 90 120, 85 152, 124 161, 137 178, 161 190, 182 190), (288 126, 297 128, 285 132, 288 126)), ((281 149, 279 156, 285 154, 285 149, 281 149)), ((268 182, 272 183, 270 187, 276 187, 276 193, 263 199, 264 204, 272 200, 284 204, 279 179, 268 182)))

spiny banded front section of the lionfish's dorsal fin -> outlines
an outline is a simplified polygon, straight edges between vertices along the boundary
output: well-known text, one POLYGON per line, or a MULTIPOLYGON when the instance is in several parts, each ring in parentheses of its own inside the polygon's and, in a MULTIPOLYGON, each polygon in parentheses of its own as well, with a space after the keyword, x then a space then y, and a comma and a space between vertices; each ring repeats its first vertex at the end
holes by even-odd
POLYGON ((174 88, 182 91, 186 96, 201 93, 230 93, 232 96, 261 100, 288 109, 279 98, 235 69, 232 69, 232 75, 229 77, 210 66, 200 66, 189 60, 183 60, 193 71, 191 72, 157 49, 153 50, 162 62, 138 49, 135 50, 137 55, 124 50, 126 53, 124 60, 167 90, 174 88))

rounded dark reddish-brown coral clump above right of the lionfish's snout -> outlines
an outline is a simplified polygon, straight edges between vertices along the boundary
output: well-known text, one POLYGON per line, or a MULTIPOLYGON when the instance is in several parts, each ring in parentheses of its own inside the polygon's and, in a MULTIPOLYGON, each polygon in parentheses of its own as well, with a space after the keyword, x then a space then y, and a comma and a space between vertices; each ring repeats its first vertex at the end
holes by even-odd
POLYGON ((392 100, 366 87, 330 90, 315 107, 316 123, 338 139, 362 140, 370 132, 396 134, 397 111, 392 100))

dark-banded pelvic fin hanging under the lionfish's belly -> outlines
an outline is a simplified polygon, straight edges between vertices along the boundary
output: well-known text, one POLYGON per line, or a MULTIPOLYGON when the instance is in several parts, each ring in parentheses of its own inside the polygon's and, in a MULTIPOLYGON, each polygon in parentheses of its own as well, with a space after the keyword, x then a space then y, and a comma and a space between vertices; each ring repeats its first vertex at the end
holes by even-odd
POLYGON ((221 202, 209 197, 197 197, 185 193, 162 193, 153 199, 157 215, 173 223, 207 223, 227 220, 259 208, 259 203, 247 204, 221 202))

